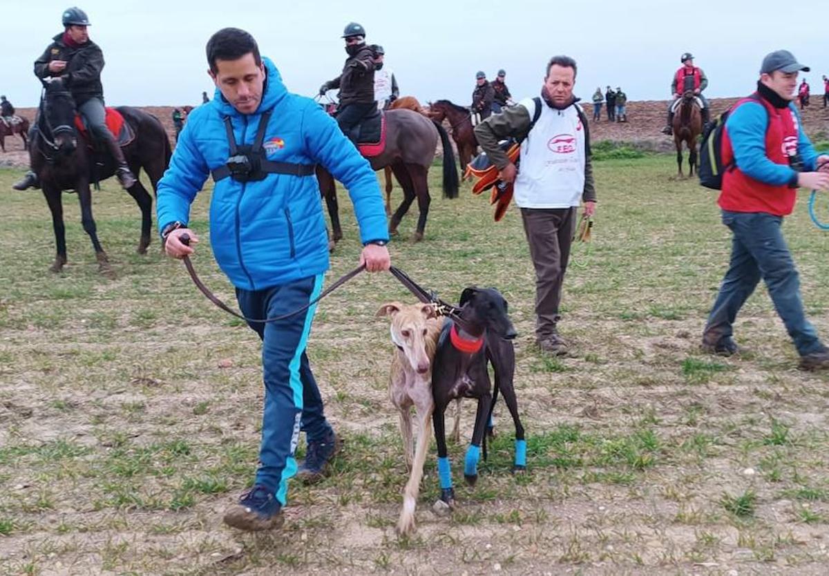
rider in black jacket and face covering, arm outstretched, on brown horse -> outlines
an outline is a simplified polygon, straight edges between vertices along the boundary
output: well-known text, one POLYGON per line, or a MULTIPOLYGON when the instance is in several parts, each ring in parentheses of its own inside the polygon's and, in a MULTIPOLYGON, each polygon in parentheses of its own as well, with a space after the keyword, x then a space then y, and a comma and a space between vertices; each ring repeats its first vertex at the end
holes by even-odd
POLYGON ((366 29, 356 22, 349 22, 342 32, 348 55, 342 74, 320 86, 319 94, 340 89, 340 106, 337 123, 351 142, 356 144, 354 128, 360 125, 376 109, 374 99, 374 52, 366 45, 366 29))

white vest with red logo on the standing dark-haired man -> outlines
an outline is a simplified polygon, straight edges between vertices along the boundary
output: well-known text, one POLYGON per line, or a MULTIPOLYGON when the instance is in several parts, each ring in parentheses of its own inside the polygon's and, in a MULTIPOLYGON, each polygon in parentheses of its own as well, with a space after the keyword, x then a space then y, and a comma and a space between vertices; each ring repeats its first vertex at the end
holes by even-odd
MULTIPOLYGON (((523 99, 519 105, 533 118, 533 99, 523 99)), ((515 183, 517 206, 579 206, 584 192, 585 136, 577 106, 557 110, 541 102, 541 116, 521 143, 521 166, 515 183)))

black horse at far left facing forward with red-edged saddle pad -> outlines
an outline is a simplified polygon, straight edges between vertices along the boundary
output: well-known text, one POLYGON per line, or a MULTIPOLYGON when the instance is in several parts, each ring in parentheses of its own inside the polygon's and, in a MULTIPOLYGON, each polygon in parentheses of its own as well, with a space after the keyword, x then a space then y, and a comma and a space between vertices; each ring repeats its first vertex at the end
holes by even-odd
MULTIPOLYGON (((132 128, 135 138, 124 146, 124 157, 129 169, 138 177, 143 168, 153 184, 158 187, 172 155, 170 141, 162 123, 152 114, 121 106, 119 113, 132 128)), ((41 99, 37 120, 37 133, 29 148, 32 170, 41 182, 43 196, 52 215, 55 229, 57 255, 51 265, 53 272, 60 272, 66 264, 66 236, 63 224, 61 192, 74 190, 80 201, 80 221, 90 235, 98 259, 99 270, 112 276, 112 269, 95 231, 92 218, 92 194, 90 182, 99 182, 114 175, 116 164, 109 153, 94 154, 90 143, 75 128, 75 101, 61 81, 46 85, 41 99)), ((138 254, 146 254, 150 244, 150 228, 153 218, 153 197, 140 181, 128 190, 141 209, 141 240, 138 254)))

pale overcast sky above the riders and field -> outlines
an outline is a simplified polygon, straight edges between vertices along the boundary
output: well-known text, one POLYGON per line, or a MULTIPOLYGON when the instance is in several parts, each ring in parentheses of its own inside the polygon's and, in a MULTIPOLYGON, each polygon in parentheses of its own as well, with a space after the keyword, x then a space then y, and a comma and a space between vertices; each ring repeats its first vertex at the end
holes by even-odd
MULTIPOLYGON (((2 0, 0 93, 34 106, 32 64, 62 31, 66 1, 2 0), (12 23, 13 22, 13 23, 12 23)), ((213 94, 204 46, 213 32, 250 31, 288 90, 312 96, 342 70, 342 29, 360 22, 385 47, 400 94, 469 104, 475 72, 507 70, 516 98, 534 96, 555 54, 579 64, 576 94, 622 86, 628 99, 667 99, 684 51, 705 70, 709 97, 747 94, 768 51, 787 48, 812 66, 812 93, 829 73, 827 4, 799 2, 538 2, 536 0, 87 0, 90 37, 104 51, 104 95, 111 105, 184 105, 213 94), (351 6, 351 7, 349 7, 351 6), (688 7, 685 15, 682 7, 688 7), (785 7, 792 7, 786 12, 785 7)))

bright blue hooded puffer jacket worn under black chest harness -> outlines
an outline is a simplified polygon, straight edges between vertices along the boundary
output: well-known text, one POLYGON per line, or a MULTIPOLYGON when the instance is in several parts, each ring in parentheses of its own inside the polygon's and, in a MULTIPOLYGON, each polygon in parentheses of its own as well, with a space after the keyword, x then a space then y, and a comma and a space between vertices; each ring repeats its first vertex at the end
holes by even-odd
MULTIPOLYGON (((187 223, 190 205, 211 170, 224 166, 230 145, 252 144, 260 114, 273 110, 264 136, 269 160, 321 164, 351 195, 363 242, 388 240, 380 186, 366 159, 312 99, 290 94, 279 70, 264 59, 267 81, 255 114, 240 114, 216 90, 209 104, 187 117, 170 167, 158 182, 158 230, 187 223)), ((259 290, 328 269, 328 241, 314 176, 269 174, 259 182, 216 183, 210 208, 213 254, 235 287, 259 290)))

